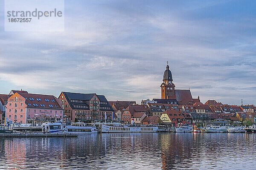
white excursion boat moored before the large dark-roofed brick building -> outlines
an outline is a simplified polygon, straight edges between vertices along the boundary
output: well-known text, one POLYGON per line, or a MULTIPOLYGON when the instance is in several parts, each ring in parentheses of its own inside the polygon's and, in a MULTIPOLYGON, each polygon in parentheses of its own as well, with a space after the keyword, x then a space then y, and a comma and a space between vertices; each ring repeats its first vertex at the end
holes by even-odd
POLYGON ((98 130, 92 124, 82 122, 72 123, 71 125, 63 126, 64 133, 83 134, 83 133, 98 133, 98 130))

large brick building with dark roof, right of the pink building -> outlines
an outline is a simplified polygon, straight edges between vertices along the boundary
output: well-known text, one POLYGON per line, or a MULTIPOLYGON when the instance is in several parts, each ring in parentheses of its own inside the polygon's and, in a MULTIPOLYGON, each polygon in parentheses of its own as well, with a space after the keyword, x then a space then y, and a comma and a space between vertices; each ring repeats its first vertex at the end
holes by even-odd
POLYGON ((58 99, 64 108, 66 122, 113 121, 113 109, 104 95, 62 91, 58 99))

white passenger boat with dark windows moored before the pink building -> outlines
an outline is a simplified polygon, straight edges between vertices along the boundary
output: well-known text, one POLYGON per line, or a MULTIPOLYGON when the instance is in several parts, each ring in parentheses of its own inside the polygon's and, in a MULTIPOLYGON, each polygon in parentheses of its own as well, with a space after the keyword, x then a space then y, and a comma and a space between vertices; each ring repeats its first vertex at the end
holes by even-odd
POLYGON ((61 123, 47 122, 42 125, 33 126, 31 124, 19 124, 12 127, 13 133, 54 133, 62 134, 61 123))

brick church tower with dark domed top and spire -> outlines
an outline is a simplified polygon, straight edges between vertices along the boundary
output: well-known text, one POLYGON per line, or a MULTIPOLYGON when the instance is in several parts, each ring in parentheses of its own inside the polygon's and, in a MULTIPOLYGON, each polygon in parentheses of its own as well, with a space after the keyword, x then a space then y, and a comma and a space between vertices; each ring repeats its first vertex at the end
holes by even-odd
POLYGON ((162 99, 176 99, 175 96, 175 85, 172 83, 172 72, 169 70, 169 65, 167 62, 166 71, 163 73, 163 83, 161 87, 161 98, 162 99))

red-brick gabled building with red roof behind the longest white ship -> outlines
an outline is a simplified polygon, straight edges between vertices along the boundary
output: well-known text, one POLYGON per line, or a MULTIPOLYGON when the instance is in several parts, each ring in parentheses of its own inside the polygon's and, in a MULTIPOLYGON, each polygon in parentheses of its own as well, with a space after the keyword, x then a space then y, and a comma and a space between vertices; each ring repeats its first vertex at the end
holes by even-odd
POLYGON ((146 105, 129 105, 122 113, 122 122, 131 124, 131 118, 134 113, 145 113, 149 115, 148 106, 146 105))

